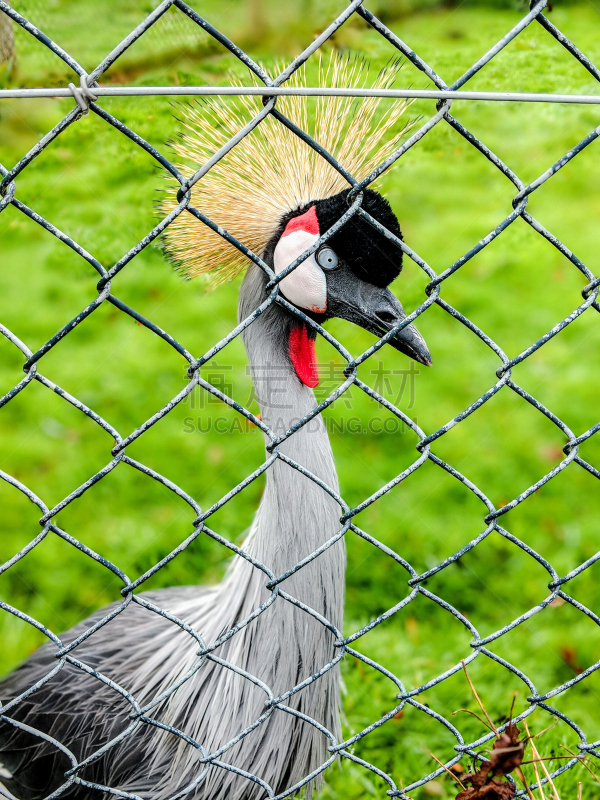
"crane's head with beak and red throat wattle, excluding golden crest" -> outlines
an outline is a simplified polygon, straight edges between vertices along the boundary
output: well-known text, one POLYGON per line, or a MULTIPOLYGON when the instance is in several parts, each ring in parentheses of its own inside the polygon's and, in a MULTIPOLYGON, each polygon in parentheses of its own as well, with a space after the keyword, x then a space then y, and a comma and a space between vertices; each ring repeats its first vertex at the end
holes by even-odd
MULTIPOLYGON (((394 212, 379 193, 364 190, 362 208, 396 239, 402 238, 394 212)), ((265 252, 275 272, 288 267, 347 210, 345 190, 287 214, 265 252)), ((286 275, 280 287, 290 303, 320 324, 339 317, 381 337, 406 319, 402 304, 388 289, 401 269, 398 244, 355 215, 286 275)), ((318 383, 314 336, 304 323, 291 327, 290 358, 296 374, 308 386, 318 383)), ((420 364, 432 363, 423 337, 412 324, 405 325, 388 343, 420 364)))

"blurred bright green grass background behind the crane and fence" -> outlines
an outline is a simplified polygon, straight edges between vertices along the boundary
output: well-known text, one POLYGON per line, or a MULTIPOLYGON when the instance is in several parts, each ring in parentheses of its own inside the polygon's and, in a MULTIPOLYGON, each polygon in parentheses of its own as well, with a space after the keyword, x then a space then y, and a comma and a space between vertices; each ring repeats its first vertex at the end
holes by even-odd
MULTIPOLYGON (((91 71, 152 9, 148 0, 23 0, 15 7, 91 71)), ((343 3, 298 0, 196 0, 193 7, 247 49, 267 68, 298 53, 343 3)), ((600 11, 595 2, 554 4, 552 21, 600 63, 600 11)), ((519 2, 454 3, 377 0, 369 7, 449 83, 516 23, 519 2)), ((4 68, 3 85, 64 85, 73 80, 62 62, 24 32, 15 32, 16 58, 4 68)), ((353 18, 325 49, 364 55, 378 69, 394 52, 361 20, 353 18)), ((312 67, 309 66, 309 77, 312 67)), ((240 64, 178 12, 166 14, 103 80, 134 84, 222 84, 240 64)), ((403 86, 428 88, 410 64, 403 86)), ((530 26, 466 88, 481 90, 597 93, 580 64, 538 25, 530 26)), ((178 129, 178 107, 166 98, 104 99, 102 105, 162 152, 178 129)), ((62 100, 2 100, 0 162, 10 167, 72 107, 62 100)), ((410 113, 425 121, 428 101, 410 113)), ((461 103, 453 114, 525 182, 534 180, 600 123, 595 106, 461 103)), ((600 248, 598 144, 547 182, 531 198, 530 212, 598 274, 600 248)), ((161 170, 127 138, 93 114, 54 141, 18 178, 17 196, 110 266, 156 222, 163 186, 161 170)), ((480 153, 445 124, 411 149, 379 183, 399 216, 408 244, 441 272, 489 233, 511 210, 514 188, 480 153)), ((95 272, 68 248, 9 206, 0 215, 0 309, 2 322, 36 350, 95 297, 95 272)), ((517 355, 580 302, 583 276, 522 220, 444 283, 442 296, 517 355)), ((427 280, 412 262, 394 286, 405 308, 424 299, 427 280)), ((201 355, 235 323, 239 284, 206 294, 184 283, 165 262, 160 246, 143 251, 113 282, 117 297, 201 355)), ((586 312, 513 373, 527 391, 577 434, 598 420, 600 319, 586 312)), ((459 322, 433 306, 419 319, 434 367, 407 381, 407 360, 386 348, 362 367, 375 385, 432 432, 495 382, 497 358, 459 322), (381 363, 378 363, 381 362, 381 363), (390 373, 384 372, 389 370, 390 373), (404 391, 402 391, 404 384, 404 391), (414 388, 411 393, 410 388, 414 388), (413 396, 414 395, 414 396, 413 396), (399 399, 398 399, 399 398, 399 399)), ((354 354, 372 337, 344 322, 330 330, 354 354)), ((340 380, 335 351, 318 343, 324 391, 340 380), (333 362, 330 365, 330 362, 333 362)), ((22 357, 0 341, 0 393, 22 376, 22 357)), ((204 371, 241 402, 251 386, 240 341, 204 371)), ((40 371, 109 420, 123 435, 151 416, 185 385, 186 364, 174 350, 130 317, 105 303, 40 363, 40 371)), ((342 420, 388 417, 358 392, 327 412, 342 493, 350 505, 376 491, 412 463, 410 432, 339 431, 342 420), (350 406, 350 407, 349 407, 350 406), (332 423, 330 423, 332 424, 332 423)), ((256 408, 256 406, 252 406, 256 408)), ((179 484, 206 508, 264 458, 262 436, 234 424, 223 404, 196 395, 179 405, 130 448, 131 455, 179 484), (220 433, 210 420, 223 418, 220 433), (190 423, 190 419, 192 422, 190 423), (194 428, 193 432, 188 432, 194 428), (198 430, 200 428, 201 430, 198 430)), ((389 424, 389 423, 388 423, 389 424)), ((0 411, 0 468, 26 483, 52 506, 110 460, 112 441, 91 420, 33 382, 0 411)), ((545 417, 504 389, 449 434, 433 451, 476 483, 497 505, 509 502, 562 458, 564 436, 545 417)), ((598 436, 581 448, 600 465, 598 436)), ((213 528, 240 541, 258 505, 263 484, 253 483, 213 519, 213 528)), ((19 492, 0 484, 0 560, 10 558, 39 530, 39 512, 19 492)), ((357 523, 421 572, 452 554, 484 529, 485 509, 458 481, 431 462, 374 506, 357 523)), ((156 482, 126 465, 59 515, 73 536, 135 578, 168 553, 191 530, 190 509, 156 482)), ((573 464, 502 519, 515 536, 565 574, 589 558, 598 542, 598 483, 573 464)), ((147 587, 215 582, 228 553, 200 537, 147 587)), ((569 592, 598 611, 599 565, 569 584, 569 592)), ((407 575, 383 553, 356 537, 348 539, 346 631, 357 630, 408 592, 407 575)), ((519 548, 493 534, 427 588, 465 614, 487 635, 548 594, 548 576, 519 548)), ((58 538, 47 538, 0 577, 0 599, 61 631, 119 597, 112 573, 58 538)), ((42 637, 9 614, 0 616, 0 672, 13 668, 42 637)), ((398 675, 408 688, 439 675, 471 652, 470 636, 448 612, 418 596, 402 612, 357 643, 361 652, 398 675)), ((491 646, 523 670, 539 692, 569 680, 600 658, 594 623, 569 604, 548 607, 491 646)), ((348 658, 344 724, 350 735, 396 704, 395 687, 378 672, 348 658)), ((485 657, 470 667, 479 694, 496 720, 526 706, 527 688, 485 657)), ((421 702, 449 717, 470 740, 483 735, 464 675, 457 674, 421 695, 421 702)), ((554 698, 586 732, 600 738, 598 673, 554 698)), ((551 718, 536 712, 534 730, 551 718)), ((577 737, 560 724, 538 740, 546 756, 564 756, 577 737)), ((407 706, 354 752, 389 772, 398 784, 431 771, 432 753, 447 760, 455 740, 432 717, 407 706)), ((554 762, 559 763, 559 762, 554 762)), ((465 765, 466 766, 466 765, 465 765)), ((527 768, 529 780, 534 780, 527 768)), ((563 800, 598 796, 598 783, 583 768, 557 780, 563 800)), ((326 798, 385 796, 386 785, 348 761, 327 776, 326 798)), ((454 797, 450 776, 418 790, 415 797, 454 797)), ((536 798, 539 793, 536 793, 536 798)))

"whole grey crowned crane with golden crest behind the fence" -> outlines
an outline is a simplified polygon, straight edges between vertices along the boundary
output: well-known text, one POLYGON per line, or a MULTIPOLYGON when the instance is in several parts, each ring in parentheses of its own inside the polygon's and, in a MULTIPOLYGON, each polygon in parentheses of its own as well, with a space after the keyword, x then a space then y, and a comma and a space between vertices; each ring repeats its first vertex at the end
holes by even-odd
MULTIPOLYGON (((396 71, 396 65, 383 70, 375 86, 390 85, 396 71)), ((322 85, 352 85, 357 79, 364 85, 366 67, 333 57, 327 66, 320 64, 319 74, 322 85)), ((300 83, 303 77, 294 80, 300 83)), ((310 129, 356 175, 369 174, 394 150, 406 129, 386 136, 406 109, 400 102, 382 110, 373 98, 321 98, 309 108, 306 98, 282 97, 278 107, 310 129)), ((188 163, 204 163, 261 108, 253 97, 242 98, 237 105, 211 100, 186 108, 186 130, 175 142, 176 152, 188 163)), ((348 209, 347 186, 326 161, 268 116, 196 184, 192 202, 279 273, 348 209)), ((168 194, 163 210, 174 206, 175 190, 168 194)), ((380 194, 365 190, 362 207, 401 236, 398 220, 380 194)), ((253 263, 248 266, 237 250, 194 218, 180 215, 166 237, 167 251, 187 277, 204 275, 214 283, 247 268, 239 295, 240 320, 264 302, 263 271, 253 263)), ((387 288, 401 265, 397 245, 355 216, 287 275, 280 290, 318 323, 340 317, 381 336, 405 319, 402 305, 387 288)), ((265 369, 277 377, 261 384, 260 410, 266 425, 283 423, 287 428, 314 409, 315 333, 306 322, 272 304, 244 330, 243 340, 255 383, 265 369)), ((412 325, 389 344, 422 364, 431 363, 425 342, 412 325)), ((282 443, 280 452, 338 492, 327 433, 320 417, 317 421, 318 425, 304 426, 282 443)), ((277 459, 267 471, 266 488, 242 547, 274 575, 282 575, 339 530, 337 502, 309 477, 277 459)), ((344 570, 342 538, 280 588, 341 630, 344 570)), ((270 597, 267 582, 260 569, 236 556, 217 586, 177 586, 141 593, 140 598, 183 620, 210 645, 270 597)), ((62 641, 73 641, 106 614, 106 608, 99 610, 63 634, 62 641)), ((52 642, 43 645, 5 678, 0 683, 2 701, 26 693, 55 669, 56 649, 52 642)), ((282 596, 226 638, 207 660, 198 656, 198 643, 188 632, 132 602, 71 653, 87 665, 87 671, 64 663, 0 717, 0 781, 7 796, 18 800, 50 795, 108 798, 103 787, 117 790, 118 796, 145 800, 255 800, 293 794, 293 787, 330 756, 331 742, 322 729, 340 741, 337 664, 220 752, 217 763, 206 767, 203 753, 217 753, 264 714, 266 695, 259 684, 277 697, 322 670, 336 653, 335 635, 282 596), (135 696, 140 705, 164 693, 148 712, 159 725, 132 719, 131 705, 117 687, 135 696), (160 725, 172 726, 184 737, 160 725), (128 735, 121 736, 124 731, 128 735), (44 736, 60 742, 62 749, 44 736), (82 761, 108 743, 112 746, 90 761, 76 780, 65 777, 72 766, 69 753, 82 761)), ((310 793, 320 780, 318 775, 309 784, 310 793)))

